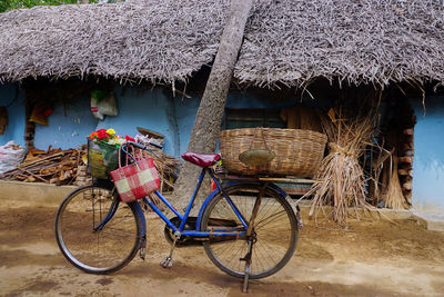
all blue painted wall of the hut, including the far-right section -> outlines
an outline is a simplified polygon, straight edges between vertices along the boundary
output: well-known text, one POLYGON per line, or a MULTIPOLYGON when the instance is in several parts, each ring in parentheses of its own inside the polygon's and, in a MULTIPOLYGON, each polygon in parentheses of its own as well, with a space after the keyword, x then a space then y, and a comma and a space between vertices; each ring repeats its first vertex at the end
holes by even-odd
MULTIPOLYGON (((173 97, 171 90, 139 87, 118 87, 114 90, 119 116, 95 119, 90 112, 90 98, 77 98, 72 102, 53 107, 49 126, 36 126, 37 148, 48 146, 63 149, 85 143, 93 130, 114 128, 118 133, 135 136, 135 127, 148 128, 165 136, 165 152, 180 156, 186 151, 200 98, 173 97)), ((0 136, 0 145, 9 140, 24 145, 24 93, 16 85, 0 85, 0 106, 8 107, 9 126, 0 136), (11 103, 12 102, 12 103, 11 103)), ((305 103, 325 106, 327 100, 304 99, 305 103)), ((274 100, 251 92, 231 92, 226 102, 230 108, 285 108, 301 102, 300 98, 274 100)), ((444 208, 444 97, 427 97, 426 115, 421 99, 412 99, 417 125, 415 127, 415 158, 413 178, 413 202, 418 206, 444 208)), ((327 107, 324 107, 326 109, 327 107)))

